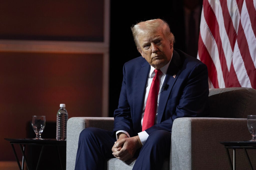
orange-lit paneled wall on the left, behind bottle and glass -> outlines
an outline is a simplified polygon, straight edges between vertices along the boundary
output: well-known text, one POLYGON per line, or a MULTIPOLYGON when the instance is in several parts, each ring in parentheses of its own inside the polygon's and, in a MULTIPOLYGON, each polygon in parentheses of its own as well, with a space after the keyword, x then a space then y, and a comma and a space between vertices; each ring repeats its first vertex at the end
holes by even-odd
POLYGON ((0 161, 15 160, 4 138, 26 138, 32 115, 55 122, 60 103, 66 104, 69 118, 103 115, 106 52, 102 47, 97 51, 97 46, 87 52, 79 44, 85 48, 85 42, 106 44, 104 3, 1 2, 0 161), (28 44, 23 49, 27 40, 31 51, 28 44), (18 42, 17 48, 12 41, 18 42), (34 41, 41 44, 39 50, 34 41), (49 47, 48 42, 55 45, 49 47), (73 46, 67 48, 69 43, 73 46))

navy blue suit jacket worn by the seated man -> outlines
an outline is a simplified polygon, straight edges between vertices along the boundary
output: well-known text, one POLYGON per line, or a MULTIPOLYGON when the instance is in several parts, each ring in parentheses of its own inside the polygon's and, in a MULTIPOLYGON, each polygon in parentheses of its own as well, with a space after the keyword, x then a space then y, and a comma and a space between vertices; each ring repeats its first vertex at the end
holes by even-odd
MULTIPOLYGON (((142 131, 141 116, 149 71, 150 64, 143 57, 124 64, 119 104, 114 111, 113 136, 118 130, 125 130, 131 137, 142 131)), ((208 71, 200 60, 173 50, 164 83, 168 88, 159 98, 157 124, 146 130, 148 134, 158 129, 172 132, 173 121, 178 117, 208 115, 208 71)))

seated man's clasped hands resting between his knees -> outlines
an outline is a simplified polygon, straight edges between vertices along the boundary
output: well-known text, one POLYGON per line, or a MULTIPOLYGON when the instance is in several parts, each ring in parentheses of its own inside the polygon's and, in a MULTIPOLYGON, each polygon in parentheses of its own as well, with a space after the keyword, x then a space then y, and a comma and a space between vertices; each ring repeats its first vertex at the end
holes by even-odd
POLYGON ((121 161, 127 161, 133 157, 136 150, 142 147, 139 136, 128 137, 125 133, 120 133, 118 140, 112 147, 112 154, 121 161))

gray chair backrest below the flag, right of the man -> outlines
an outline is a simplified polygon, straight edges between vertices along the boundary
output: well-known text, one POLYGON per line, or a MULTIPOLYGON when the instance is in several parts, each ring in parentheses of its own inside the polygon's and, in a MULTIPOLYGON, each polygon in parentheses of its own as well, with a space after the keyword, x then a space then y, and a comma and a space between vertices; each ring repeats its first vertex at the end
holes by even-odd
POLYGON ((256 114, 256 90, 248 87, 209 89, 210 117, 247 118, 256 114))

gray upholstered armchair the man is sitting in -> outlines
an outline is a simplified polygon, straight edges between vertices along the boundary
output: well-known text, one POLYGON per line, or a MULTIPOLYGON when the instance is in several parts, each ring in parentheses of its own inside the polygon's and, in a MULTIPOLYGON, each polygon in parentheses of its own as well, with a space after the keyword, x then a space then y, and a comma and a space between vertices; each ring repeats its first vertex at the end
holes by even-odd
MULTIPOLYGON (((247 115, 256 114, 256 90, 234 87, 210 89, 210 117, 184 117, 174 120, 170 157, 162 169, 229 169, 221 141, 250 140, 247 115)), ((80 132, 87 127, 113 128, 113 117, 71 117, 67 124, 67 170, 73 170, 80 132)), ((249 150, 256 166, 256 152, 249 150)), ((230 151, 231 156, 233 153, 230 151)), ((86 161, 86 160, 84 160, 86 161)), ((132 169, 136 159, 106 160, 106 169, 132 169), (122 167, 122 168, 121 168, 122 167)), ((250 169, 243 150, 236 151, 236 168, 250 169)))

